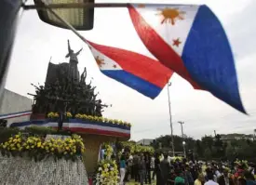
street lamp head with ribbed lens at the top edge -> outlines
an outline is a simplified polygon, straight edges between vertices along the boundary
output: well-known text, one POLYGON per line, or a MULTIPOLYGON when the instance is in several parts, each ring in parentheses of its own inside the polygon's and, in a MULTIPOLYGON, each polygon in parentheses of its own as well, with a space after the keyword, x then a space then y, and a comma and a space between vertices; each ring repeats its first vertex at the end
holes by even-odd
MULTIPOLYGON (((47 6, 47 5, 66 5, 66 4, 87 4, 94 3, 94 0, 34 0, 35 6, 47 6)), ((60 28, 69 29, 60 19, 56 18, 51 13, 52 10, 48 8, 38 8, 37 13, 40 20, 57 26, 60 28)), ((94 8, 82 7, 82 8, 54 8, 53 11, 61 16, 63 20, 69 22, 75 30, 91 30, 93 29, 94 8)))

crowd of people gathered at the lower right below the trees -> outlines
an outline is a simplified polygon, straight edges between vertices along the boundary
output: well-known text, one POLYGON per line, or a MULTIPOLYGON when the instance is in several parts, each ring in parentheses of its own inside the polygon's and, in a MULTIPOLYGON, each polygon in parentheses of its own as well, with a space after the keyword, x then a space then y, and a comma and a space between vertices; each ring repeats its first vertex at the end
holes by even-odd
POLYGON ((255 165, 247 162, 188 161, 168 154, 123 153, 120 185, 131 179, 136 184, 156 185, 256 185, 255 165), (255 170, 254 170, 255 168, 255 170))

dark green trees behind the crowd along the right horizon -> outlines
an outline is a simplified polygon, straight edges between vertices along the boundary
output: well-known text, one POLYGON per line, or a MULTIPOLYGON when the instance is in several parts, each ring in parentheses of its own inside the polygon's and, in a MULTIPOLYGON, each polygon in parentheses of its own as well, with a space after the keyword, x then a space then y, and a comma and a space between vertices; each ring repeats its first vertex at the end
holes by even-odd
MULTIPOLYGON (((230 134, 205 136, 202 139, 185 138, 186 151, 194 152, 195 158, 199 159, 249 159, 255 160, 256 140, 249 139, 249 135, 230 134), (226 137, 226 139, 224 139, 226 137), (234 139, 232 139, 234 138, 234 139)), ((152 146, 156 151, 168 152, 171 150, 171 137, 161 136, 155 139, 152 146)), ((174 136, 175 152, 182 152, 182 138, 174 136)), ((256 162, 256 161, 255 161, 256 162)))

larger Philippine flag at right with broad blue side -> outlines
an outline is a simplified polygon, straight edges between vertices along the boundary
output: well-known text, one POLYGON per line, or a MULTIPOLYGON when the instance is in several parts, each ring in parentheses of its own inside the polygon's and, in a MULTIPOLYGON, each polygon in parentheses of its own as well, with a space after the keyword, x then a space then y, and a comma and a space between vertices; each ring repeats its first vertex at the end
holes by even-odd
POLYGON ((131 4, 128 12, 142 43, 156 59, 196 89, 208 90, 245 112, 231 46, 209 7, 131 4))

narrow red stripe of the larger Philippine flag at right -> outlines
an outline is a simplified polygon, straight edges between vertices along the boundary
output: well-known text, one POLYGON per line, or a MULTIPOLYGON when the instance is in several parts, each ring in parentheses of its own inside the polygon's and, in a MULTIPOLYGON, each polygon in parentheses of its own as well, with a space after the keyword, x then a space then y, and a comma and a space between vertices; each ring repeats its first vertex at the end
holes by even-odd
MULTIPOLYGON (((142 8, 142 7, 141 7, 142 8)), ((201 89, 190 77, 187 72, 182 58, 155 32, 153 28, 142 18, 141 14, 131 5, 128 6, 128 11, 136 32, 139 34, 142 43, 148 50, 159 59, 165 66, 180 74, 192 86, 201 89)))

